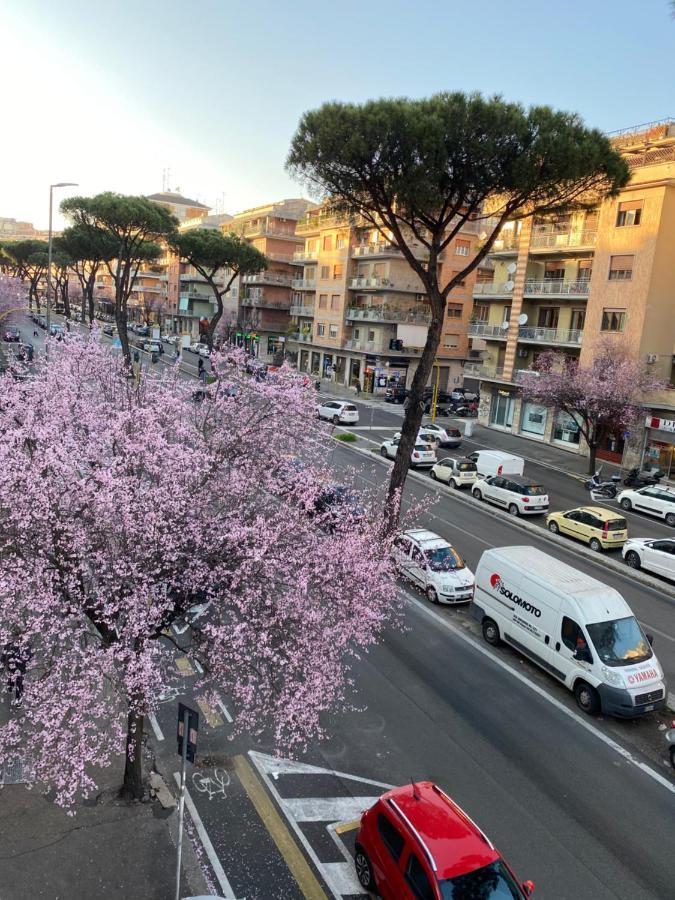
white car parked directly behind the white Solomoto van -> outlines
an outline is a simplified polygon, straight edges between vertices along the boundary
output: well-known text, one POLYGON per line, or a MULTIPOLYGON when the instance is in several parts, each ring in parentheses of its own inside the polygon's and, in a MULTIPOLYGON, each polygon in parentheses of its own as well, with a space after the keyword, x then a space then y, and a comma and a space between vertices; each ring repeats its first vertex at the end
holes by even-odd
POLYGON ((464 603, 473 597, 474 577, 457 550, 425 528, 402 531, 392 546, 394 565, 422 588, 432 603, 464 603))

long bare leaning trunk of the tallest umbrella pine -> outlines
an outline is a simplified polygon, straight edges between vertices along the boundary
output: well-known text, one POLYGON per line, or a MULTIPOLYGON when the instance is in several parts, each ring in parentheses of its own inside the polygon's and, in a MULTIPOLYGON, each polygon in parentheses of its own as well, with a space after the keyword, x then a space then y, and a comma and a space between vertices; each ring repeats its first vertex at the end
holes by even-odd
POLYGON ((398 527, 403 485, 410 468, 413 447, 415 446, 424 413, 422 394, 431 375, 438 346, 441 342, 445 301, 438 290, 429 291, 428 296, 432 309, 432 320, 429 325, 426 344, 410 386, 410 395, 407 400, 407 408, 401 428, 401 440, 398 444, 385 501, 384 527, 389 533, 392 533, 398 527))

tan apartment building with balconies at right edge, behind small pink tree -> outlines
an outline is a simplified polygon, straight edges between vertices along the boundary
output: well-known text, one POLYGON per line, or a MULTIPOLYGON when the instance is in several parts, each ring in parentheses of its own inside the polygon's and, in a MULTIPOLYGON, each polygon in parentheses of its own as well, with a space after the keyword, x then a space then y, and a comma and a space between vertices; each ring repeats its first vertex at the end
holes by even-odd
MULTIPOLYGON (((479 421, 588 453, 576 421, 519 396, 520 372, 556 349, 590 364, 598 338, 626 345, 672 385, 675 352, 675 122, 612 136, 631 179, 618 197, 566 215, 507 223, 473 287, 467 384, 479 421), (480 359, 477 359, 480 357, 480 359)), ((650 396, 633 434, 609 436, 600 458, 644 459, 675 475, 675 391, 650 396)))

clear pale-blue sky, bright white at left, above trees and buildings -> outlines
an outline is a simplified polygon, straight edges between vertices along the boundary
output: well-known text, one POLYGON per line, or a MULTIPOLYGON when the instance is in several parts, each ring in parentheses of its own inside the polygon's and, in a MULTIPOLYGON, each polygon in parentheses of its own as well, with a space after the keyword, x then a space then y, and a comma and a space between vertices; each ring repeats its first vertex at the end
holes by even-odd
POLYGON ((0 78, 0 216, 45 227, 50 182, 152 193, 167 167, 237 212, 301 195, 284 160, 325 100, 478 90, 607 131, 675 116, 675 20, 668 0, 0 0, 0 78))

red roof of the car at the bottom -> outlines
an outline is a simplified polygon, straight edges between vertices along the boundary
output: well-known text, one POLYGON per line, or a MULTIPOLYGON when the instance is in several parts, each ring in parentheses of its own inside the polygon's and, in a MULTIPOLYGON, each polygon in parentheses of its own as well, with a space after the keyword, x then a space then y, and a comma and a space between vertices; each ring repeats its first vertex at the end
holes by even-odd
MULTIPOLYGON (((388 803, 394 800, 431 853, 439 880, 473 872, 500 858, 480 828, 431 781, 415 782, 414 792, 419 799, 413 795, 412 785, 395 788, 383 794, 380 802, 396 819, 398 814, 388 803)), ((417 843, 415 838, 412 841, 417 843)), ((423 848, 419 849, 426 855, 423 848)))

